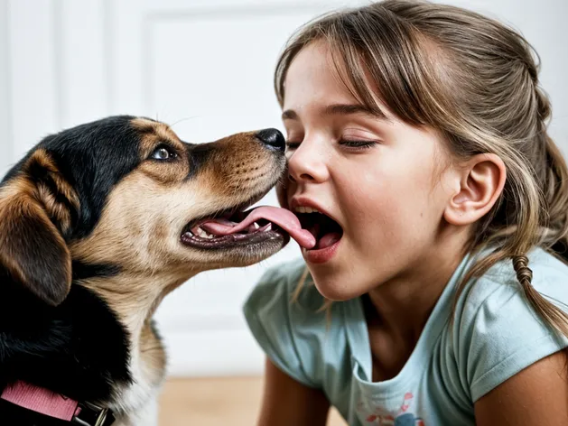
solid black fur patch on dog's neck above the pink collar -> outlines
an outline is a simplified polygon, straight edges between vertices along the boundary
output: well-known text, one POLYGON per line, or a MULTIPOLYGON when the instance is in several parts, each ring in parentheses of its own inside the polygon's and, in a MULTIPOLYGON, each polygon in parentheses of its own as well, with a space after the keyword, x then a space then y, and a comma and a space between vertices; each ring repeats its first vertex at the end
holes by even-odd
POLYGON ((7 348, 0 389, 24 381, 104 403, 115 384, 132 382, 126 327, 96 293, 72 285, 66 300, 50 307, 9 277, 0 283, 0 346, 7 348))

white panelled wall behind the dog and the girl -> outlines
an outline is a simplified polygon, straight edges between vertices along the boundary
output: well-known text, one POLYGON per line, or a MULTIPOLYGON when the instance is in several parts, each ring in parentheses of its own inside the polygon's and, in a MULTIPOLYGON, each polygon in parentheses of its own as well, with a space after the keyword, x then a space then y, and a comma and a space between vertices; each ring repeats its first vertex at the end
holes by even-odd
MULTIPOLYGON (((110 114, 190 142, 282 128, 272 73, 287 36, 340 0, 0 0, 0 172, 48 133, 110 114)), ((566 0, 452 0, 507 19, 542 55, 551 133, 568 153, 566 0)), ((270 193, 262 203, 275 204, 270 193)), ((258 373, 240 306, 268 265, 203 273, 157 313, 176 375, 258 373)))

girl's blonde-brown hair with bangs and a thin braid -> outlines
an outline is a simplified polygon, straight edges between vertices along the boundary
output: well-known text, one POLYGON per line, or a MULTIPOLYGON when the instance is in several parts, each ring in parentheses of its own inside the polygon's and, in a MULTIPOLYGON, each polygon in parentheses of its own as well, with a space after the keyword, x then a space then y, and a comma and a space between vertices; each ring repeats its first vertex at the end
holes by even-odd
POLYGON ((535 291, 526 257, 542 246, 568 260, 568 170, 546 133, 551 106, 532 46, 504 24, 451 5, 386 0, 334 12, 307 23, 285 47, 275 70, 281 106, 290 63, 314 41, 330 46, 340 79, 364 106, 377 110, 378 95, 405 123, 440 132, 456 158, 494 153, 505 162, 505 189, 466 247, 497 249, 461 288, 510 259, 527 300, 568 337, 568 315, 535 291))

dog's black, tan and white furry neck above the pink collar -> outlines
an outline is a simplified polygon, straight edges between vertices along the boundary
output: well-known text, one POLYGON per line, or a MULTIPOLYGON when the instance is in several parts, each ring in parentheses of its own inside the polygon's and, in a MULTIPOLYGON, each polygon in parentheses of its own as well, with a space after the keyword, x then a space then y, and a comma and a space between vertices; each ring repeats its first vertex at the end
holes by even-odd
POLYGON ((73 282, 56 308, 0 279, 0 345, 10 348, 9 357, 0 354, 0 389, 23 380, 77 401, 110 403, 116 412, 135 411, 165 372, 152 315, 187 279, 122 273, 85 278, 73 282), (21 310, 23 305, 29 309, 21 310))

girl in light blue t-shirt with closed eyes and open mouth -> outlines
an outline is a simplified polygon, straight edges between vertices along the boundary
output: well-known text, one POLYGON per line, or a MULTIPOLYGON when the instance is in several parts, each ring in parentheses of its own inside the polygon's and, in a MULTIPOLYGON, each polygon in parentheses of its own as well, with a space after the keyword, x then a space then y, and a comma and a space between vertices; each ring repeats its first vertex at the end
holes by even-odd
POLYGON ((295 34, 275 89, 317 243, 245 306, 259 424, 567 424, 568 171, 528 43, 386 0, 295 34))

